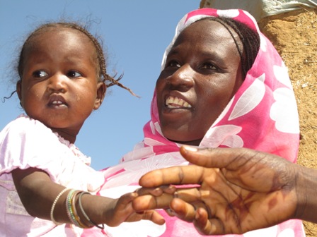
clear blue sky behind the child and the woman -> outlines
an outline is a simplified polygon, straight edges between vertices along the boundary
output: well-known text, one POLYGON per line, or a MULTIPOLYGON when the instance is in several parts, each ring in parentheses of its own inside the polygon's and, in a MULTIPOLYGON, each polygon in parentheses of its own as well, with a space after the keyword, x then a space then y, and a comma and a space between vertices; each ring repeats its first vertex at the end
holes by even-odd
MULTIPOLYGON (((200 0, 0 0, 1 100, 15 90, 14 63, 31 30, 61 17, 91 21, 91 32, 103 38, 108 51, 108 71, 124 73, 121 82, 141 98, 110 87, 102 107, 88 118, 75 144, 92 157, 94 169, 117 164, 143 138, 163 51, 178 20, 199 6, 200 0)), ((0 129, 21 113, 16 94, 0 102, 0 129)))

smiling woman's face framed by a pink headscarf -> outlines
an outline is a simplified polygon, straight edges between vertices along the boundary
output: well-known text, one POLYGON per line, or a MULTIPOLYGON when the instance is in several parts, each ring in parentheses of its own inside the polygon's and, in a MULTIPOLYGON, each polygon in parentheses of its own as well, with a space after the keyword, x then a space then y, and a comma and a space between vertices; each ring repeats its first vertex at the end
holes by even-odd
MULTIPOLYGON (((234 37, 241 44, 235 32, 234 37)), ((156 82, 163 135, 199 145, 242 83, 241 59, 229 31, 211 20, 188 26, 156 82)))

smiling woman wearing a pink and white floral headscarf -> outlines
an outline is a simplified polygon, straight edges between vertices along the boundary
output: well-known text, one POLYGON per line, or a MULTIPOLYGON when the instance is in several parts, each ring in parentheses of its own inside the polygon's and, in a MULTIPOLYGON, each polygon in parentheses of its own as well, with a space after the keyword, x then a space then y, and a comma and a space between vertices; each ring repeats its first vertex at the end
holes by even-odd
MULTIPOLYGON (((183 144, 248 147, 296 162, 299 123, 282 59, 250 14, 202 8, 184 16, 163 56, 144 141, 104 170, 100 195, 135 190, 148 171, 187 165, 183 144)), ((162 212, 163 213, 163 212, 162 212)), ((111 236, 198 236, 190 223, 166 217, 106 228, 111 236)), ((304 236, 292 220, 244 236, 304 236)))

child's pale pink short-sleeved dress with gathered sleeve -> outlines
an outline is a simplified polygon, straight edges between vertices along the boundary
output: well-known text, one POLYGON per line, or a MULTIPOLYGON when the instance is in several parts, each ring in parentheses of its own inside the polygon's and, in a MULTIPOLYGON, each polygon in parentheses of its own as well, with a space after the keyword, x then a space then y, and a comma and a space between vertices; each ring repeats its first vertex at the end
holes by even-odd
POLYGON ((0 133, 0 236, 81 236, 83 229, 76 226, 56 226, 31 217, 18 197, 11 171, 35 167, 62 186, 96 192, 104 178, 90 162, 90 157, 40 121, 21 115, 8 123, 0 133))

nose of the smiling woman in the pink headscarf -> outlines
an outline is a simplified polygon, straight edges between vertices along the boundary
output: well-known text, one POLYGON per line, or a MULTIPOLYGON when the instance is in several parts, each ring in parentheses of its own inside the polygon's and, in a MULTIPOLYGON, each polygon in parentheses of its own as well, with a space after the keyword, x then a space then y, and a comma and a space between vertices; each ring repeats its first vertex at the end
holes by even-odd
POLYGON ((194 73, 190 65, 185 64, 180 66, 167 80, 168 83, 177 90, 188 90, 194 85, 194 73))

